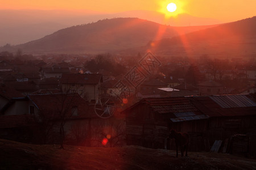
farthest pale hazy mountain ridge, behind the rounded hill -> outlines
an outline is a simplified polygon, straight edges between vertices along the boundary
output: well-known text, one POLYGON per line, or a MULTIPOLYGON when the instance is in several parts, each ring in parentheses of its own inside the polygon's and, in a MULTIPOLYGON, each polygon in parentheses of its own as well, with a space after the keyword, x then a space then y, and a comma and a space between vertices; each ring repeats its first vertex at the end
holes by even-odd
POLYGON ((180 14, 166 19, 157 11, 135 10, 108 13, 91 10, 3 10, 0 9, 0 46, 41 39, 59 29, 92 23, 104 18, 140 18, 172 26, 220 24, 219 20, 180 14))

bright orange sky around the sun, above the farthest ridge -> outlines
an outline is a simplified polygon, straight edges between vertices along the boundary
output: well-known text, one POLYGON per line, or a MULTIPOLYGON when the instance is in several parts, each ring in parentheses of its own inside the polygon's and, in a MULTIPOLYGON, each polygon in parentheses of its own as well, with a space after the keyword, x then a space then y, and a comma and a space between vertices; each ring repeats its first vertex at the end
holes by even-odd
POLYGON ((232 22, 256 15, 256 0, 0 0, 0 9, 40 10, 93 10, 98 12, 122 12, 151 10, 166 12, 169 16, 187 13, 201 18, 213 18, 221 22, 232 22), (167 12, 168 3, 174 2, 177 11, 167 12))

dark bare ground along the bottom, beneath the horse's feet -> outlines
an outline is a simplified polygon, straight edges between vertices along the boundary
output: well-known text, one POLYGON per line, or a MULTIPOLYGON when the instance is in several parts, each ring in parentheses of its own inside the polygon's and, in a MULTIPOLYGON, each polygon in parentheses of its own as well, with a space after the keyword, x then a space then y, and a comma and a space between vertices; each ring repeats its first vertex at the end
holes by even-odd
POLYGON ((255 159, 229 154, 175 151, 138 146, 94 148, 30 145, 0 139, 0 169, 256 169, 255 159), (180 155, 179 155, 180 156, 180 155))

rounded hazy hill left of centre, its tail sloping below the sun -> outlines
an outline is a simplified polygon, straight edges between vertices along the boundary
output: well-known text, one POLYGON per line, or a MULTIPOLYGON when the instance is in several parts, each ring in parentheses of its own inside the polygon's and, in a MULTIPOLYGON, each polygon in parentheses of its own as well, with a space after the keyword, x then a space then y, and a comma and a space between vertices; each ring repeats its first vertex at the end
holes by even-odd
POLYGON ((216 25, 170 27, 138 18, 115 18, 61 29, 42 39, 16 45, 29 53, 105 53, 144 46, 216 25))

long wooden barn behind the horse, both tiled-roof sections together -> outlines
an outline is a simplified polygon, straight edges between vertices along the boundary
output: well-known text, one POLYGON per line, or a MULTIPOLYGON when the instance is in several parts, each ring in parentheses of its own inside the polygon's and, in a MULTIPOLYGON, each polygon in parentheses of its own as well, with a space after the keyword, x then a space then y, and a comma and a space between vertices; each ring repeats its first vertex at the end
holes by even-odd
POLYGON ((218 140, 226 152, 256 153, 256 102, 251 95, 146 98, 123 113, 127 145, 172 149, 174 141, 168 143, 166 137, 174 129, 189 134, 190 151, 209 151, 218 140), (247 141, 234 146, 237 134, 247 141))

